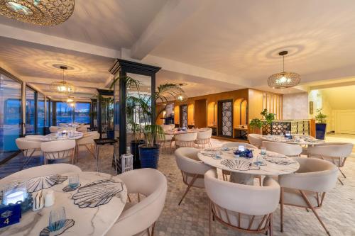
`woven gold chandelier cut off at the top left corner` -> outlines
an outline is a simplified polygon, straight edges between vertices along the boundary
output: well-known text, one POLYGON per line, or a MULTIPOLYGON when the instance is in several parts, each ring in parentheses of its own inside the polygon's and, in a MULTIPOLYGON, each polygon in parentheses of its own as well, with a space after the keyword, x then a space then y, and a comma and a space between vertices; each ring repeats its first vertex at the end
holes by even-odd
POLYGON ((0 0, 0 14, 39 26, 54 26, 72 16, 74 5, 74 0, 0 0))

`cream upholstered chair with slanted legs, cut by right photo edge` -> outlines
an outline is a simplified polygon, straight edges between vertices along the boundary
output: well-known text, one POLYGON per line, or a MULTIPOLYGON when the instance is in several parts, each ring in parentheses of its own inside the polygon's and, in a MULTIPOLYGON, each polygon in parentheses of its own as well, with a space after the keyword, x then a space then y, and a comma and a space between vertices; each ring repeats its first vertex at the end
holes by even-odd
MULTIPOLYGON (((346 142, 326 142, 324 144, 315 145, 313 147, 308 147, 309 157, 318 157, 321 159, 326 159, 329 162, 335 164, 339 172, 342 173, 344 178, 346 175, 342 172, 342 167, 344 167, 346 157, 349 157, 353 150, 354 145, 352 143, 346 142)), ((339 182, 343 184, 343 181, 338 178, 339 182)))

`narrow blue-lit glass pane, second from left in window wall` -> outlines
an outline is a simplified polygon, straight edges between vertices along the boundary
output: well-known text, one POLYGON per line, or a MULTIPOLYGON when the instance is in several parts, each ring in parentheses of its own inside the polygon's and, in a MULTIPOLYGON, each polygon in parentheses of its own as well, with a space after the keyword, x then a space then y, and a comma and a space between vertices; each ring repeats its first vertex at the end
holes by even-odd
POLYGON ((26 87, 26 134, 35 133, 35 91, 26 87))

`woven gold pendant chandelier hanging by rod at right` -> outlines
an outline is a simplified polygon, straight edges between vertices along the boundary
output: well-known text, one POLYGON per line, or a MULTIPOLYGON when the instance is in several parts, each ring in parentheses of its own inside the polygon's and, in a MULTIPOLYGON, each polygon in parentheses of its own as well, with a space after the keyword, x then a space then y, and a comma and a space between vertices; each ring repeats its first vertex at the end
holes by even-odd
POLYGON ((268 77, 268 86, 271 86, 273 89, 285 89, 300 84, 300 74, 295 72, 285 72, 285 55, 287 54, 288 51, 278 53, 278 55, 283 57, 283 72, 273 74, 271 77, 268 77))

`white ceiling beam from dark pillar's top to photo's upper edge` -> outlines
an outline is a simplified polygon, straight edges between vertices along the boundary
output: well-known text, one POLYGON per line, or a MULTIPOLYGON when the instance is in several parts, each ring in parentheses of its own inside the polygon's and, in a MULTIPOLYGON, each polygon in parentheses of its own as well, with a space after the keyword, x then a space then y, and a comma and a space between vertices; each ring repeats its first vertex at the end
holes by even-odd
POLYGON ((210 2, 210 0, 169 0, 131 47, 131 57, 142 60, 173 30, 210 2))

